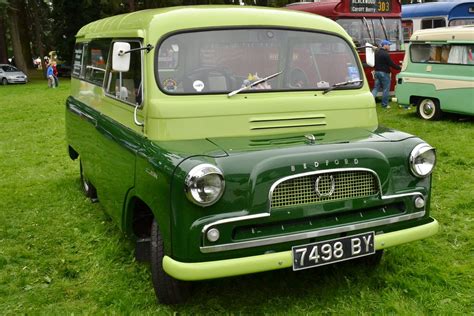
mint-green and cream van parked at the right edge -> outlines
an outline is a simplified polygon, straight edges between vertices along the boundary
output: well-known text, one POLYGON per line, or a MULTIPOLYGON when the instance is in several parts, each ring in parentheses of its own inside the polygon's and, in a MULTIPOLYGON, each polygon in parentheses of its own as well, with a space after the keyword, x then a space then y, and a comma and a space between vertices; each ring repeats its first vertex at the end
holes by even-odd
POLYGON ((416 105, 426 120, 474 115, 473 51, 474 25, 415 32, 397 75, 398 103, 416 105))

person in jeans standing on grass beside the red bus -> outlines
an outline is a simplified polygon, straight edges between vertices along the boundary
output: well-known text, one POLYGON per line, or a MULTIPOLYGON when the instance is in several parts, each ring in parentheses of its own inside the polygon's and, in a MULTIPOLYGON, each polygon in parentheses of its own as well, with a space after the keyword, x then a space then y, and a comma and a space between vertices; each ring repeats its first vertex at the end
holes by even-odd
POLYGON ((372 95, 374 98, 377 96, 377 93, 382 89, 382 108, 389 109, 388 100, 390 98, 390 67, 400 70, 400 66, 396 65, 390 55, 388 50, 390 49, 392 43, 388 40, 383 40, 380 43, 380 48, 375 52, 375 85, 372 90, 372 95))

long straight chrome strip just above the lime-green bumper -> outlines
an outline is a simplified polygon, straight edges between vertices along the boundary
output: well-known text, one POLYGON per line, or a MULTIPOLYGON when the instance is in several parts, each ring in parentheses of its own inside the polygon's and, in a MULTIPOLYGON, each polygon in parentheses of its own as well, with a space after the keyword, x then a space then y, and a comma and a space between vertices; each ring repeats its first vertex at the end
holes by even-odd
MULTIPOLYGON (((416 212, 412 214, 406 214, 406 215, 390 217, 390 218, 383 218, 383 219, 379 219, 375 221, 345 225, 345 226, 340 226, 340 227, 326 228, 326 229, 305 232, 305 233, 298 233, 298 234, 293 234, 293 235, 270 237, 270 238, 259 239, 259 240, 249 240, 249 241, 237 242, 233 244, 205 246, 205 247, 200 247, 200 250, 202 253, 212 253, 212 252, 228 251, 228 250, 235 250, 235 249, 242 249, 242 248, 267 246, 267 245, 273 245, 277 243, 322 237, 322 236, 327 236, 327 235, 332 235, 332 234, 350 232, 350 231, 359 230, 359 229, 366 229, 366 228, 371 228, 371 227, 376 227, 376 226, 381 226, 381 225, 388 225, 388 224, 398 223, 402 221, 407 221, 414 218, 419 218, 424 215, 425 215, 425 211, 423 210, 421 212, 416 212)), ((207 225, 207 226, 210 226, 210 225, 207 225)))

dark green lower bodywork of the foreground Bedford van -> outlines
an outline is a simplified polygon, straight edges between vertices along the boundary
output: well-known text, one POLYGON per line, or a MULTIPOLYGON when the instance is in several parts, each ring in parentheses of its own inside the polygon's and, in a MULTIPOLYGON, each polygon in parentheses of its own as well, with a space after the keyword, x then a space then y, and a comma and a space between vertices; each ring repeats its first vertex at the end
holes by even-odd
POLYGON ((258 240, 416 211, 412 196, 382 199, 381 195, 420 192, 427 202, 426 214, 422 218, 365 231, 390 232, 431 221, 428 217, 431 177, 414 177, 408 165, 411 150, 422 140, 406 133, 383 127, 375 131, 315 132, 314 144, 298 134, 157 142, 72 97, 66 106, 68 143, 80 154, 86 176, 98 188, 106 211, 122 230, 131 234, 130 203, 136 198, 142 200, 153 211, 162 230, 166 252, 175 260, 200 262, 238 258, 289 250, 292 245, 321 239, 215 253, 200 250, 210 245, 202 235, 205 225, 238 216, 270 214, 265 218, 220 225, 221 238, 216 244, 258 240), (226 181, 222 198, 206 208, 191 203, 184 194, 186 174, 204 162, 218 166, 226 181), (380 194, 270 209, 269 191, 275 181, 304 172, 341 168, 374 171, 380 180, 380 194))

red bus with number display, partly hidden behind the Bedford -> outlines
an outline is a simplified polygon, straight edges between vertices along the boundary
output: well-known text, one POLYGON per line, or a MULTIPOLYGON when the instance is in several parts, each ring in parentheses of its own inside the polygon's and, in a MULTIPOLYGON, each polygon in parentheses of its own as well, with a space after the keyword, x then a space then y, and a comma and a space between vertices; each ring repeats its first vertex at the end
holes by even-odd
MULTIPOLYGON (((403 32, 401 25, 401 4, 399 0, 384 0, 362 2, 352 0, 335 0, 321 2, 293 3, 287 9, 305 11, 330 18, 340 24, 352 37, 356 46, 365 43, 379 45, 384 39, 390 40, 390 58, 398 64, 404 56, 403 32)), ((359 56, 365 61, 365 52, 360 51, 359 56)), ((372 75, 373 68, 364 65, 364 72, 369 80, 371 89, 374 86, 372 75)), ((392 81, 390 91, 395 87, 395 76, 398 70, 391 70, 392 81)))

